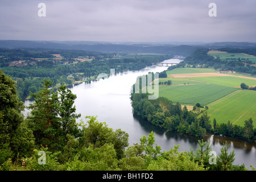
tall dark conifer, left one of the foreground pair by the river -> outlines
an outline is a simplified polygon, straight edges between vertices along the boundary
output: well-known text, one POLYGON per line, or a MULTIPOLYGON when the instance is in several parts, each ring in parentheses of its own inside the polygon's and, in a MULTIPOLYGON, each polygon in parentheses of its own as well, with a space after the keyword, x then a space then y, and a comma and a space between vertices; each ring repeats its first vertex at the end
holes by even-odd
POLYGON ((35 102, 30 104, 28 108, 31 110, 31 115, 27 117, 28 126, 33 131, 36 144, 48 145, 50 149, 56 146, 61 146, 63 141, 60 141, 60 121, 59 100, 57 92, 53 92, 49 88, 52 81, 44 78, 42 88, 39 92, 31 93, 35 98, 35 102))

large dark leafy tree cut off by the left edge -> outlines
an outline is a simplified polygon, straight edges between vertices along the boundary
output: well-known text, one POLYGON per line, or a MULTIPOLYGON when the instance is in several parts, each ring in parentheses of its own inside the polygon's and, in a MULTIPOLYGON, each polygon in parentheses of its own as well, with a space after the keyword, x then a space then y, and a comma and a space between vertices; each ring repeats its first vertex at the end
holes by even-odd
POLYGON ((17 138, 17 131, 24 119, 21 113, 23 109, 24 105, 19 101, 15 81, 0 70, 0 163, 17 155, 13 140, 17 138))

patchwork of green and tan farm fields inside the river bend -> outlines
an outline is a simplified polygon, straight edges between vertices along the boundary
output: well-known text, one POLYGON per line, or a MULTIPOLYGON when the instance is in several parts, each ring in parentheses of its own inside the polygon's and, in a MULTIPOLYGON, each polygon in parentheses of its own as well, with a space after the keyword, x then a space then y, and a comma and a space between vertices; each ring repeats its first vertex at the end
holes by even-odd
POLYGON ((243 126, 243 121, 252 118, 256 126, 256 92, 242 90, 240 84, 255 86, 255 77, 239 73, 207 76, 214 69, 178 68, 167 71, 167 78, 159 78, 159 82, 172 80, 172 85, 160 85, 159 96, 182 105, 207 105, 210 120, 216 118, 217 123, 228 121, 243 126), (189 77, 198 73, 198 77, 189 77), (204 76, 205 73, 205 76, 204 76), (183 75, 183 77, 176 77, 183 75))

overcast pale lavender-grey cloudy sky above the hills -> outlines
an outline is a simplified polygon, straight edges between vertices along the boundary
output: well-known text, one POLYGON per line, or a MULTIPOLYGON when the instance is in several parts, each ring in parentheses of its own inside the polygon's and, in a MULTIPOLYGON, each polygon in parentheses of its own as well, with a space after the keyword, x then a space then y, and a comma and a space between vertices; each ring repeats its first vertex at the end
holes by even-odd
POLYGON ((0 40, 256 42, 255 0, 1 0, 0 40), (216 17, 209 16, 210 3, 216 17), (38 16, 39 3, 46 16, 38 16))

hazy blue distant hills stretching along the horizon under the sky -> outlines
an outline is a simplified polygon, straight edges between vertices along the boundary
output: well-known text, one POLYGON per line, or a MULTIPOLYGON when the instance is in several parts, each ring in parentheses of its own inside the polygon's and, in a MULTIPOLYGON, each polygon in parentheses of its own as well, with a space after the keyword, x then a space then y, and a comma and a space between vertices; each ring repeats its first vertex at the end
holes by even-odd
POLYGON ((0 48, 43 48, 43 49, 78 49, 97 52, 124 53, 163 53, 188 56, 197 48, 256 48, 256 43, 239 42, 164 42, 164 43, 133 43, 133 42, 93 42, 93 41, 30 41, 0 40, 0 48))

